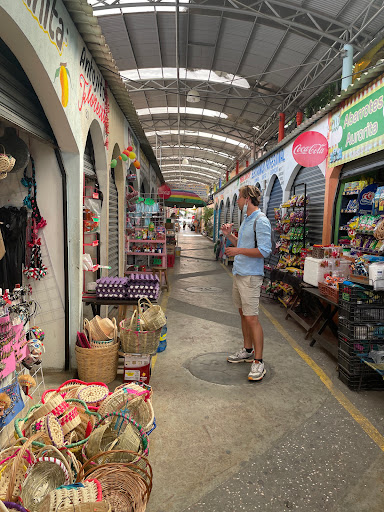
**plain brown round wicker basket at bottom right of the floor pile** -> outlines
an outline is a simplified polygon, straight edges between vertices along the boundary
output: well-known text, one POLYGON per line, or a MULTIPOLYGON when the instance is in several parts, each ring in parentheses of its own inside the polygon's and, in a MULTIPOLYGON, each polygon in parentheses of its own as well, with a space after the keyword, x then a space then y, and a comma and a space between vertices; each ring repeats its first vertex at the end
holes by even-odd
MULTIPOLYGON (((108 456, 112 453, 108 452, 108 456)), ((111 504, 113 512, 145 512, 152 489, 150 468, 148 461, 145 469, 110 463, 91 469, 90 474, 99 480, 103 497, 111 504)))

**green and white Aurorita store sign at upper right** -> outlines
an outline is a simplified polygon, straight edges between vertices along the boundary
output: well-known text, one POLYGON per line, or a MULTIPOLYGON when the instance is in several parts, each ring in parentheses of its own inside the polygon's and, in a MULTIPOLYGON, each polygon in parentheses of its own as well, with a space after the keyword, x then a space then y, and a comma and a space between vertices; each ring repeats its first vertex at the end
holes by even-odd
POLYGON ((333 167, 384 149, 384 83, 357 93, 330 119, 328 165, 333 167))

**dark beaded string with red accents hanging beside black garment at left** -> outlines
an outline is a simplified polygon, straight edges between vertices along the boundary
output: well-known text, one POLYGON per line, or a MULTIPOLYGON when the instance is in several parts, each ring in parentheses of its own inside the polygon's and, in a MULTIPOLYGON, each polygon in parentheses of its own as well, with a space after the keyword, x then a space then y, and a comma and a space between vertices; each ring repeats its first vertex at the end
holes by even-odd
POLYGON ((27 246, 30 248, 30 258, 28 264, 25 265, 23 273, 32 279, 40 280, 47 275, 48 269, 43 265, 41 257, 41 239, 38 236, 39 229, 47 225, 47 221, 41 216, 37 205, 37 185, 36 185, 36 168, 35 161, 31 156, 32 176, 27 175, 27 168, 24 169, 24 177, 21 183, 28 188, 28 195, 24 198, 24 205, 32 210, 31 216, 31 237, 27 246))

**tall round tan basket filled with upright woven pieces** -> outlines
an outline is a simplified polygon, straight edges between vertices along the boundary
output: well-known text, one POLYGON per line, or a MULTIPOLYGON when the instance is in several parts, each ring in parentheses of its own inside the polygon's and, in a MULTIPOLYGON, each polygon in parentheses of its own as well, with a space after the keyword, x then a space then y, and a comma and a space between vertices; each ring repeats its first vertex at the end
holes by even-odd
POLYGON ((80 379, 109 384, 116 378, 118 363, 116 319, 95 316, 84 320, 84 333, 78 333, 75 347, 80 379))

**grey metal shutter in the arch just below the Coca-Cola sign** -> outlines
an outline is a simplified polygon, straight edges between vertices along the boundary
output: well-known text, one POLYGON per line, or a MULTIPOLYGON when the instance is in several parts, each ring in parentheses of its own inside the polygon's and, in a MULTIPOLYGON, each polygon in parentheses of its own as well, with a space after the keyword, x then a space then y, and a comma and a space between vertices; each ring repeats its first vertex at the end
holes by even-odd
POLYGON ((309 202, 307 205, 308 228, 307 241, 313 244, 321 244, 323 239, 323 220, 324 220, 324 197, 325 197, 325 178, 318 166, 302 167, 296 175, 291 188, 291 196, 294 194, 296 186, 296 195, 304 194, 304 187, 297 186, 306 183, 307 196, 309 202))

